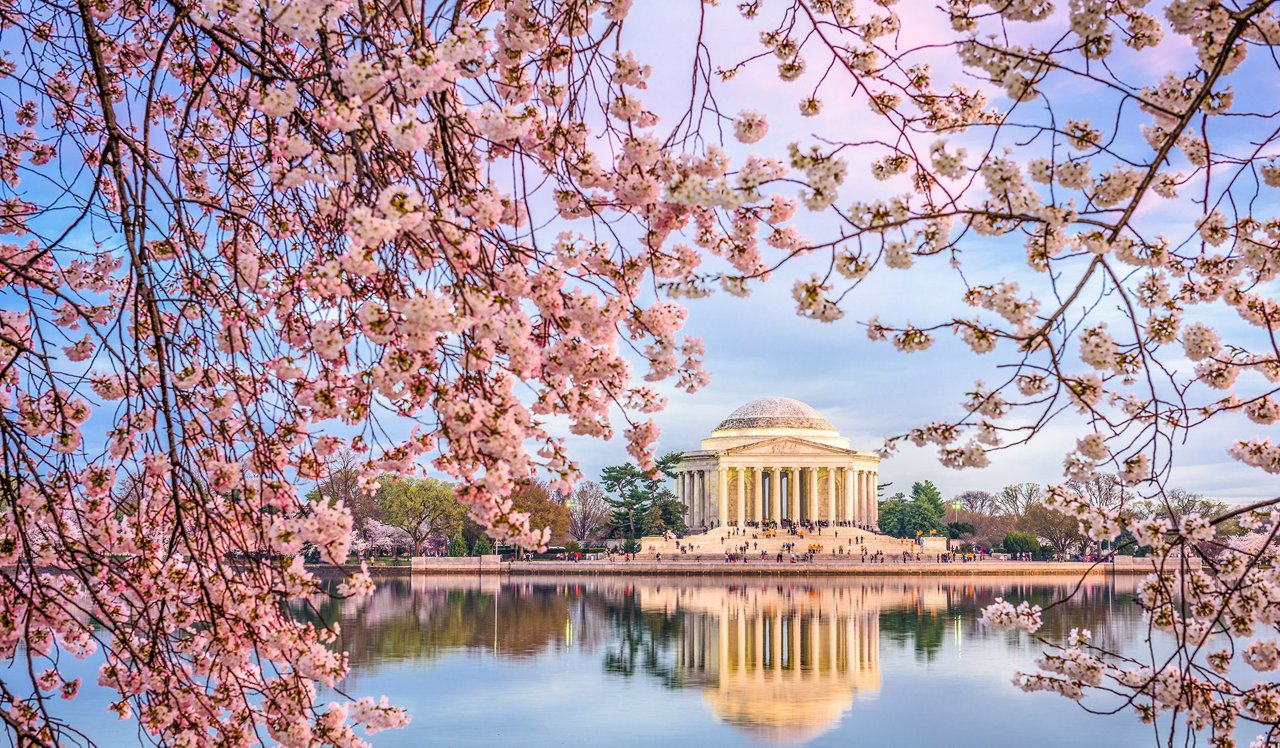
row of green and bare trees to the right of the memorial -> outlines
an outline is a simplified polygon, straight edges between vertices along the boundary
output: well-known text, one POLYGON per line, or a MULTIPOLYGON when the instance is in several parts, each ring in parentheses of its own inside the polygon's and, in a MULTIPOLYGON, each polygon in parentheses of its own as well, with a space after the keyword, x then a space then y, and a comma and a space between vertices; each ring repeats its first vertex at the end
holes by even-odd
MULTIPOLYGON (((1115 475, 1069 482, 1073 491, 1103 508, 1125 510, 1137 517, 1161 516, 1176 524, 1188 514, 1216 516, 1229 510, 1224 501, 1207 498, 1180 488, 1161 496, 1143 497, 1115 475)), ((881 532, 900 537, 945 535, 960 541, 963 548, 992 548, 1011 553, 1061 552, 1092 553, 1110 549, 1110 543, 1094 543, 1079 530, 1079 523, 1046 506, 1048 487, 1039 483, 1012 483, 998 492, 965 491, 950 501, 929 480, 916 482, 909 494, 901 492, 879 502, 881 532)), ((1219 539, 1244 533, 1234 521, 1217 526, 1219 539)), ((1142 552, 1130 537, 1115 542, 1120 552, 1142 552)))

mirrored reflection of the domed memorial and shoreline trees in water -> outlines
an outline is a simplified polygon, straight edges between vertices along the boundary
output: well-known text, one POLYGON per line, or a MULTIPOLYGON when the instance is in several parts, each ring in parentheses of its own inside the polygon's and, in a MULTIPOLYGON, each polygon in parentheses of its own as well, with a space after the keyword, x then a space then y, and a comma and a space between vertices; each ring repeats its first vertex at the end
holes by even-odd
MULTIPOLYGON (((611 678, 696 690, 717 720, 753 740, 804 743, 847 721, 860 695, 879 693, 882 642, 927 661, 952 637, 989 637, 977 619, 997 596, 1039 605, 1071 597, 1046 620, 1046 635, 1082 626, 1119 648, 1143 625, 1114 615, 1135 584, 1124 576, 1076 584, 1062 576, 415 575, 380 580, 367 598, 317 597, 298 615, 340 625, 335 646, 349 656, 346 685, 356 692, 385 666, 416 662, 426 674, 457 653, 503 663, 585 656, 611 678)), ((1023 644, 1012 635, 1006 646, 1023 644)))

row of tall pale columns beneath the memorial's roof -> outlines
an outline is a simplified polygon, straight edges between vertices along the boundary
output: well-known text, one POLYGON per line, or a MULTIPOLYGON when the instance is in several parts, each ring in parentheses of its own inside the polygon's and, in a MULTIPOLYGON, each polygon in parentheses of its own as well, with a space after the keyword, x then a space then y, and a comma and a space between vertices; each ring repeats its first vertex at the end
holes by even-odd
POLYGON ((877 471, 858 465, 690 465, 676 494, 694 530, 746 523, 878 521, 877 471))

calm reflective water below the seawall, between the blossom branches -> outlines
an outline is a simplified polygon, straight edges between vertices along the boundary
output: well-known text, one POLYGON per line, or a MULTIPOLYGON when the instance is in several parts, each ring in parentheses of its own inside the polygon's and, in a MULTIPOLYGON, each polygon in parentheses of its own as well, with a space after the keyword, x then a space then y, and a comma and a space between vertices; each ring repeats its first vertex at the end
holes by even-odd
MULTIPOLYGON (((1041 644, 978 622, 1076 581, 415 576, 323 614, 348 692, 413 715, 376 745, 1151 745, 1132 711, 1016 689, 1041 644)), ((1143 647, 1135 581, 1089 578, 1044 631, 1143 647)))

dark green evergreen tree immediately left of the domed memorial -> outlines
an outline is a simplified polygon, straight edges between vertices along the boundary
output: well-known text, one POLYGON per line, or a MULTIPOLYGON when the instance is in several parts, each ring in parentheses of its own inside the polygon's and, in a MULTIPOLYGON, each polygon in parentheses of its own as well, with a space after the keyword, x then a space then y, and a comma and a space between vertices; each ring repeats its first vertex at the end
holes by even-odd
POLYGON ((678 452, 659 457, 658 475, 649 475, 630 462, 600 471, 600 484, 609 493, 611 529, 626 538, 687 530, 685 506, 664 480, 675 476, 680 459, 678 452))

